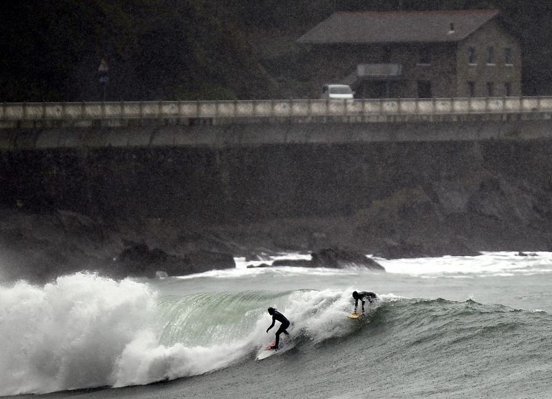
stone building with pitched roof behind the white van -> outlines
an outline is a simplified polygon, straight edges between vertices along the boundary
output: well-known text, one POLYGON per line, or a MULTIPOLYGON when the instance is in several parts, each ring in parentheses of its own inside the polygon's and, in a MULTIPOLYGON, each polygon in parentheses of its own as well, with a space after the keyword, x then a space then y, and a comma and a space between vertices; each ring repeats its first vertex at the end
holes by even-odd
POLYGON ((350 84, 359 98, 521 95, 520 43, 497 10, 335 12, 297 39, 311 84, 350 84))

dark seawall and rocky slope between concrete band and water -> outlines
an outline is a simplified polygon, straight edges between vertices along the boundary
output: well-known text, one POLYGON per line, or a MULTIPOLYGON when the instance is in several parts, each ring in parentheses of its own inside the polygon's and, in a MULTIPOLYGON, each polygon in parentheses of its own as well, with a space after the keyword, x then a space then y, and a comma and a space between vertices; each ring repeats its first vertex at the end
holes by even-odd
POLYGON ((63 229, 57 244, 21 231, 61 211, 116 232, 77 229, 86 245, 62 257, 104 251, 112 237, 108 255, 122 240, 178 256, 552 250, 550 153, 551 142, 536 141, 1 153, 11 222, 0 245, 4 257, 30 245, 42 248, 32 262, 60 264, 63 229))

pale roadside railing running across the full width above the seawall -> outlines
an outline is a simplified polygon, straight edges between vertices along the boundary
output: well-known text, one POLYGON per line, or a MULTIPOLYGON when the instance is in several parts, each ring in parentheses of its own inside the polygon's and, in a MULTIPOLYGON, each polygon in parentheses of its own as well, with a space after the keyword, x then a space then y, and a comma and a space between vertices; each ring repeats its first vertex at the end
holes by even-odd
POLYGON ((2 103, 0 121, 551 113, 552 97, 2 103))

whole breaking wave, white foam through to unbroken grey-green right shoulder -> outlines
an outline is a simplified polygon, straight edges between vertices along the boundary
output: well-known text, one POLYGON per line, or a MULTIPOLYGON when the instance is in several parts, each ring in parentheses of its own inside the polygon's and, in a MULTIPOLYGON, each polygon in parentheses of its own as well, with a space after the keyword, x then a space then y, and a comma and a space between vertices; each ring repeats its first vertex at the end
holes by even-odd
POLYGON ((496 340, 524 349, 524 341, 533 342, 533 351, 552 321, 545 312, 393 293, 378 293, 364 318, 350 320, 352 291, 160 295, 145 282, 83 273, 45 286, 3 286, 0 394, 145 385, 241 367, 273 340, 277 326, 266 333, 268 306, 292 323, 295 349, 285 356, 301 362, 314 350, 317 364, 344 367, 399 353, 402 362, 430 364, 428 351, 440 351, 440 362, 460 360, 466 351, 476 356, 475 344, 493 353, 496 340))

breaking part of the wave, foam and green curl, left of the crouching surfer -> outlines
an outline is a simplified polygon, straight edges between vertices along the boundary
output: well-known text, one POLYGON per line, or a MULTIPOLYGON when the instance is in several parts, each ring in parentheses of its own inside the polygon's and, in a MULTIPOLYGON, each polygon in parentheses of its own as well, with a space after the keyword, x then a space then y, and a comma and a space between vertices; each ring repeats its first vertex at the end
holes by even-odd
POLYGON ((351 332, 351 291, 159 297, 142 282, 77 273, 0 287, 0 394, 123 387, 206 373, 273 340, 275 306, 290 332, 322 342, 351 332))

